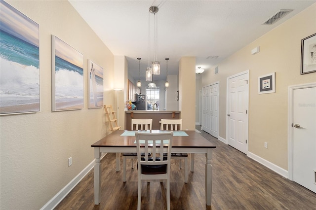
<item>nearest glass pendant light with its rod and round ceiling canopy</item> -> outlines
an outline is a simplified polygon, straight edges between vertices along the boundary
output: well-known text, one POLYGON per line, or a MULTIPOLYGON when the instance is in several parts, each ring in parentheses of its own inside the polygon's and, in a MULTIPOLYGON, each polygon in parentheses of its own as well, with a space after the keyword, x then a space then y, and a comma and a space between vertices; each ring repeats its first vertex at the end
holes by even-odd
POLYGON ((154 14, 154 61, 152 62, 152 73, 154 75, 159 75, 160 74, 160 62, 158 61, 157 58, 157 40, 158 40, 158 12, 159 8, 157 6, 151 6, 149 8, 149 12, 154 14))

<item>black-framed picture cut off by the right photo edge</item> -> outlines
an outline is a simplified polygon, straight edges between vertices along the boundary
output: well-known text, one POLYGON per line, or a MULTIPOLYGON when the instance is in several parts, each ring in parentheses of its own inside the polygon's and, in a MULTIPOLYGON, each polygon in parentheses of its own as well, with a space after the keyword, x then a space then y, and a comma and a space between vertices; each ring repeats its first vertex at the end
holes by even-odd
POLYGON ((301 74, 316 72, 316 34, 302 39, 301 74))

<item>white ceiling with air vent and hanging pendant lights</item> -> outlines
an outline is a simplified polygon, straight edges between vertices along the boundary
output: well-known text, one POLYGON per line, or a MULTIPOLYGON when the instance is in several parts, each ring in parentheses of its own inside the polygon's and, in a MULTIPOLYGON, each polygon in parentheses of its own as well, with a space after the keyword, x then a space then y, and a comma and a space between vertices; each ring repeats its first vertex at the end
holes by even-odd
POLYGON ((141 80, 145 80, 148 61, 154 60, 154 47, 149 47, 149 42, 152 43, 154 40, 152 30, 154 14, 149 13, 149 7, 158 6, 157 57, 160 61, 160 75, 154 75, 154 81, 166 78, 165 58, 170 59, 168 74, 178 74, 179 61, 183 56, 195 56, 196 67, 201 67, 205 71, 210 70, 243 46, 316 2, 316 0, 69 1, 114 55, 126 56, 129 74, 135 80, 138 80, 137 57, 142 58, 141 80), (280 9, 293 9, 293 11, 272 25, 263 25, 280 9))

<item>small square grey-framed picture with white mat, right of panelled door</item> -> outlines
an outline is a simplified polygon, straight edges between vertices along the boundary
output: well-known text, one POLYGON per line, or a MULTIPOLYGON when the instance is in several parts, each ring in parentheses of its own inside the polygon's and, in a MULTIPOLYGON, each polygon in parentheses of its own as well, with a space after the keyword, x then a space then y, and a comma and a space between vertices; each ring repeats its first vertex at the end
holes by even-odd
POLYGON ((269 73, 258 77, 258 93, 275 93, 276 92, 276 72, 269 73))

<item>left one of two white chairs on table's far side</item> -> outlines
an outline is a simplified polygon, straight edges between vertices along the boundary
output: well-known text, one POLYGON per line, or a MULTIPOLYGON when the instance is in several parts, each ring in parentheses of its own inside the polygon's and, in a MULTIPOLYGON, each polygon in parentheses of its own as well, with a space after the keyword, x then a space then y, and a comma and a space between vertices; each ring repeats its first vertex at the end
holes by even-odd
MULTIPOLYGON (((152 130, 153 119, 132 119, 132 131, 152 130)), ((123 156, 123 181, 126 181, 126 159, 131 159, 132 169, 134 168, 133 160, 137 159, 137 153, 122 153, 123 156)))

